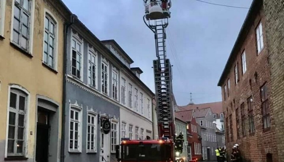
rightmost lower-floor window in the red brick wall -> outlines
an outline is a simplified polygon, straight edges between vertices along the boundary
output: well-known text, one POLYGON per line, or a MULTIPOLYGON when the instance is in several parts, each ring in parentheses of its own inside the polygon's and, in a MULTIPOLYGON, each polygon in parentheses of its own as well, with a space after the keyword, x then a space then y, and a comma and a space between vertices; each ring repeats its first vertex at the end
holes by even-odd
POLYGON ((262 118, 263 118, 263 126, 264 128, 270 127, 270 110, 269 110, 269 102, 268 102, 268 89, 267 85, 262 86, 260 88, 261 92, 261 105, 262 105, 262 118))

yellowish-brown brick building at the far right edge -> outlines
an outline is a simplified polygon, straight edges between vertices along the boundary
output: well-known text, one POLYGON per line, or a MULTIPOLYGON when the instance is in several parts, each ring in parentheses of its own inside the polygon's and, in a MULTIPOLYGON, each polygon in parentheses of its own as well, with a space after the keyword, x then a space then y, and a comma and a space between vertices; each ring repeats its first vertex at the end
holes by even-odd
POLYGON ((264 0, 265 31, 270 61, 271 102, 279 161, 284 161, 284 1, 264 0), (276 115, 277 114, 277 115, 276 115))

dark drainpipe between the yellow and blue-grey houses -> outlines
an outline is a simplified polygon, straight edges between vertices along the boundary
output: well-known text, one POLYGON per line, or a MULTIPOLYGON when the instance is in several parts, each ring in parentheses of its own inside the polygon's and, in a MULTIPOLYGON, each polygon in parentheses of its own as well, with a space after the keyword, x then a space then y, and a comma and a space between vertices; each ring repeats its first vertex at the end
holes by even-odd
POLYGON ((64 23, 64 51, 63 51, 63 99, 62 99, 62 133, 61 133, 61 147, 60 147, 60 161, 61 162, 64 162, 64 158, 65 158, 65 155, 64 155, 64 146, 65 146, 65 118, 66 118, 66 115, 65 115, 65 109, 66 109, 66 106, 65 106, 65 102, 66 102, 66 72, 67 72, 67 33, 68 33, 68 28, 74 23, 74 20, 75 20, 75 17, 76 15, 75 14, 72 14, 71 17, 70 17, 70 22, 66 22, 64 23))

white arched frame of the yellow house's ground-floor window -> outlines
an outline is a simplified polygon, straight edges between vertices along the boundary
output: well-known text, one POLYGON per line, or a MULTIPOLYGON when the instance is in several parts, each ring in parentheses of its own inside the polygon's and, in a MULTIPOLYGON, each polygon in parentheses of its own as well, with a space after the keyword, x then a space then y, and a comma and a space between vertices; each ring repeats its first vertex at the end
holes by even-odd
MULTIPOLYGON (((17 97, 19 98, 19 97, 17 97)), ((18 100, 16 100, 16 108, 17 105, 19 103, 18 100)), ((5 152, 4 152, 4 156, 5 158, 8 158, 9 156, 22 156, 22 157, 26 157, 27 153, 28 153, 28 140, 29 140, 29 136, 28 136, 28 131, 29 130, 29 106, 30 106, 30 93, 28 90, 26 90, 25 88, 19 86, 19 85, 9 85, 8 86, 8 97, 7 97, 7 121, 6 121, 6 141, 5 141, 5 152), (21 96, 25 96, 25 116, 24 116, 24 132, 23 132, 23 150, 22 150, 22 154, 17 154, 17 153, 8 153, 8 136, 9 136, 9 112, 10 112, 10 94, 11 93, 19 93, 21 94, 21 96)), ((15 113, 16 110, 12 110, 13 113, 15 113)), ((22 113, 21 113, 22 114, 22 113)), ((17 114, 16 114, 17 116, 17 114)), ((17 117, 15 116, 15 129, 17 127, 17 117)), ((14 137, 16 136, 17 131, 14 131, 14 137)), ((15 140, 17 140, 17 137, 14 138, 15 140)), ((14 147, 16 145, 14 144, 14 147)), ((14 148, 14 150, 16 150, 16 148, 14 148)), ((17 150, 16 150, 17 151, 17 150)))

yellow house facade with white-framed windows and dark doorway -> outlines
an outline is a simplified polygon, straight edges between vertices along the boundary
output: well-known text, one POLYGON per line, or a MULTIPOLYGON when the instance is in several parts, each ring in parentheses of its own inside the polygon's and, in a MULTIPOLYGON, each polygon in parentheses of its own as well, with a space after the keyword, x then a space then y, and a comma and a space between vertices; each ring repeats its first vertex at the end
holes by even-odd
POLYGON ((66 17, 58 1, 0 0, 0 161, 60 160, 66 17))

